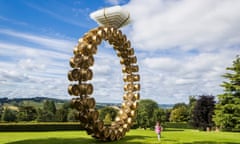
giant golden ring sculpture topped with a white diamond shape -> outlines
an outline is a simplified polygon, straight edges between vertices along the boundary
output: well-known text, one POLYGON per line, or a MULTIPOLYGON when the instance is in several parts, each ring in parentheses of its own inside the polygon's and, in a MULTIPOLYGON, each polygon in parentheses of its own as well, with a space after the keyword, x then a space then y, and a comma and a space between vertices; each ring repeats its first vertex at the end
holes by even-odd
POLYGON ((87 32, 79 39, 78 45, 73 50, 74 56, 70 59, 70 66, 73 69, 68 73, 68 79, 73 83, 69 85, 68 92, 76 96, 72 99, 72 104, 78 110, 81 125, 89 135, 103 141, 119 140, 130 129, 140 98, 137 58, 131 42, 119 30, 129 22, 129 13, 115 6, 96 11, 91 17, 94 17, 101 26, 87 32), (94 64, 93 56, 97 53, 97 46, 102 40, 108 41, 120 58, 125 82, 121 110, 110 126, 104 125, 99 119, 95 99, 91 97, 93 85, 89 82, 93 78, 91 69, 94 64))

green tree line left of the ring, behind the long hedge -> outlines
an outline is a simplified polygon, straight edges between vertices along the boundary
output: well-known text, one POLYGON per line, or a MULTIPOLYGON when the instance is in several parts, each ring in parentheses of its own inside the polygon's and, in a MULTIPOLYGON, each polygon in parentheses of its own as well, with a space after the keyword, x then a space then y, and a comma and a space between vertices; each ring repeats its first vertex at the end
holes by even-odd
POLYGON ((42 108, 34 106, 19 105, 18 110, 9 107, 0 108, 0 118, 4 122, 67 122, 77 121, 75 119, 75 110, 71 108, 69 102, 65 102, 59 109, 56 108, 55 102, 45 100, 42 108))

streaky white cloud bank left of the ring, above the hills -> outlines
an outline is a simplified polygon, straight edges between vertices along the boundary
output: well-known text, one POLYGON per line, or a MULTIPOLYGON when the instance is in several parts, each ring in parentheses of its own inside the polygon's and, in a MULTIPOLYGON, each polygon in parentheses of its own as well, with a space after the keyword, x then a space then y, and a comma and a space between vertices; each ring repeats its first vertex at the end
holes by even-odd
POLYGON ((67 97, 72 41, 13 30, 1 29, 0 34, 17 38, 11 43, 7 40, 0 43, 1 96, 67 97))

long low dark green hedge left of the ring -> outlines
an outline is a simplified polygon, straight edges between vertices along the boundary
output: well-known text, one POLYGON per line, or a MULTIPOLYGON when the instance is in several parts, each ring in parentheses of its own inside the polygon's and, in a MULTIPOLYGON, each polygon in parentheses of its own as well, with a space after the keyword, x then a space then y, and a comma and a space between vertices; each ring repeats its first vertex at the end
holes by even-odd
POLYGON ((76 123, 33 123, 33 124, 0 124, 0 131, 67 131, 82 130, 80 124, 76 123))

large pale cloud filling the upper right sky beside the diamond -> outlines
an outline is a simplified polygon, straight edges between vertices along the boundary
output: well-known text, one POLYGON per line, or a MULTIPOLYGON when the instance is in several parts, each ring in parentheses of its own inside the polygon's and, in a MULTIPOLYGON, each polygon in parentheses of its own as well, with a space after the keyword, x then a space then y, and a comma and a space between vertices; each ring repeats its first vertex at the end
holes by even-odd
POLYGON ((143 50, 209 51, 239 44, 237 0, 132 0, 125 7, 133 20, 133 42, 143 50))

